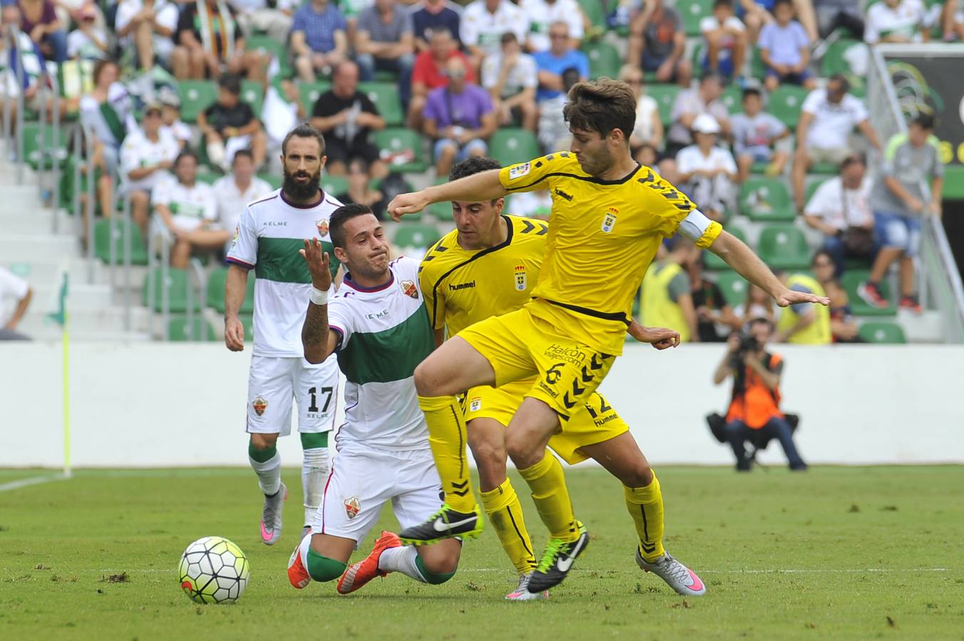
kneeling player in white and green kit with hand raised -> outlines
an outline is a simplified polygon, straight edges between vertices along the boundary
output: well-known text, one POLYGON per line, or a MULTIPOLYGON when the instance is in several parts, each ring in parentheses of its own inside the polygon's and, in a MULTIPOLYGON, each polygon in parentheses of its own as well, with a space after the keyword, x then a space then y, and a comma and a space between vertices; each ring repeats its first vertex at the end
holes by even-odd
POLYGON ((389 572, 442 583, 458 567, 462 544, 454 539, 416 549, 383 532, 367 557, 347 565, 385 503, 402 526, 420 523, 438 511, 441 481, 413 383, 415 364, 434 346, 417 263, 388 262, 385 232, 364 205, 339 208, 331 234, 347 271, 330 295, 329 255, 305 241, 312 289, 302 343, 311 363, 336 354, 347 379, 345 423, 312 534, 292 553, 288 579, 298 588, 338 579, 342 594, 389 572))

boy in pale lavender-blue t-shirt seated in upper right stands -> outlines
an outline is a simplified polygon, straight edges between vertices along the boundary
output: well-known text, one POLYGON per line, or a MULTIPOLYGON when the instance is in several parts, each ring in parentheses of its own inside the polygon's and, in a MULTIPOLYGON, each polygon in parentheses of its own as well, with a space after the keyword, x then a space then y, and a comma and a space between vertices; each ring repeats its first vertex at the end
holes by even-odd
POLYGON ((799 85, 814 89, 817 83, 810 75, 810 38, 800 23, 793 19, 790 0, 777 0, 773 5, 776 19, 763 27, 760 39, 760 57, 766 65, 763 87, 776 90, 781 84, 799 85))

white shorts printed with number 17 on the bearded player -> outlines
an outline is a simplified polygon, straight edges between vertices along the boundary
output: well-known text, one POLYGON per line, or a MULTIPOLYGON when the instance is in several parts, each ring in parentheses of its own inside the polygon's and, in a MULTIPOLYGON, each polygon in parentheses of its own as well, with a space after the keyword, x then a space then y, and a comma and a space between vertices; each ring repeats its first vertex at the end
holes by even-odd
POLYGON ((248 432, 291 433, 291 400, 298 403, 298 431, 330 432, 338 404, 338 363, 333 355, 311 365, 304 358, 252 356, 248 377, 248 432))

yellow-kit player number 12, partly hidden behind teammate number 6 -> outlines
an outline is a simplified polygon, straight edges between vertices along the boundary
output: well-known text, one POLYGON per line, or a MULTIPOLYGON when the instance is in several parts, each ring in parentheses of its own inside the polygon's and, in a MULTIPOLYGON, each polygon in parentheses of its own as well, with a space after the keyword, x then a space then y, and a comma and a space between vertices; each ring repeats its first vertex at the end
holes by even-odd
MULTIPOLYGON (((491 158, 469 158, 452 167, 449 180, 500 167, 491 158)), ((504 198, 453 202, 457 228, 428 250, 418 268, 419 289, 437 345, 442 345, 446 334, 454 336, 473 322, 519 309, 529 300, 542 267, 549 226, 542 220, 503 216, 504 205, 504 198)), ((675 345, 673 339, 679 337, 673 330, 644 330, 635 322, 629 333, 638 340, 663 340, 657 348, 675 345)), ((527 589, 536 559, 519 497, 505 474, 504 431, 534 383, 533 378, 527 378, 500 388, 474 387, 462 402, 469 448, 478 467, 483 510, 520 574, 519 586, 506 595, 510 601, 543 599, 548 595, 527 589)), ((628 430, 629 425, 605 398, 592 394, 566 428, 549 438, 549 448, 566 462, 576 464, 593 455, 592 446, 628 430)), ((639 509, 649 510, 648 518, 654 524, 650 532, 662 531, 660 497, 648 505, 633 506, 630 513, 639 509)), ((655 550, 659 541, 640 545, 655 550)))

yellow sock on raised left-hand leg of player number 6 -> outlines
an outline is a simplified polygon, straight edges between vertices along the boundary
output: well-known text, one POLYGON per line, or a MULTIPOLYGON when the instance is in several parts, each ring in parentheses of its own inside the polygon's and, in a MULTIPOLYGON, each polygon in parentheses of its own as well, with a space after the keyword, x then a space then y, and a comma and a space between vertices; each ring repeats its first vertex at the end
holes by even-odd
POLYGON ((475 509, 466 460, 466 421, 456 397, 418 397, 428 425, 428 444, 442 478, 445 503, 459 512, 475 509))

